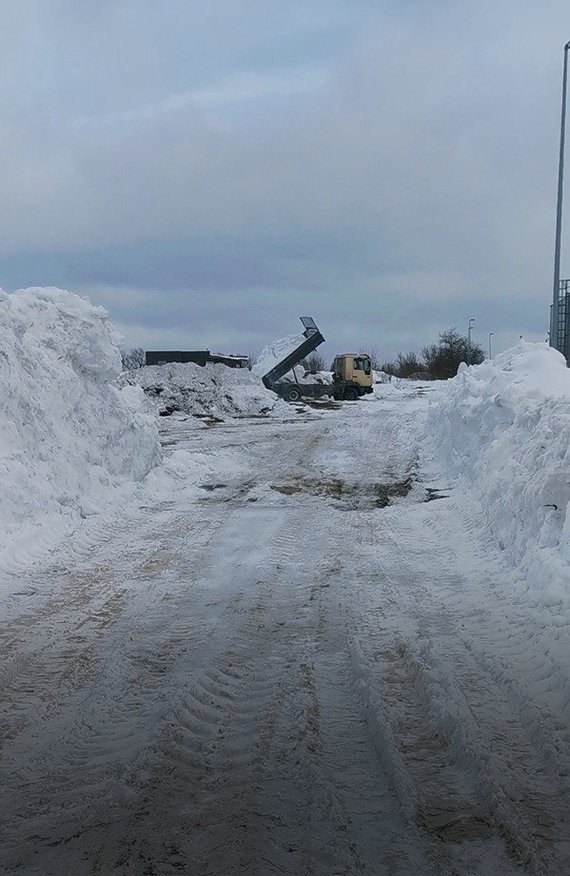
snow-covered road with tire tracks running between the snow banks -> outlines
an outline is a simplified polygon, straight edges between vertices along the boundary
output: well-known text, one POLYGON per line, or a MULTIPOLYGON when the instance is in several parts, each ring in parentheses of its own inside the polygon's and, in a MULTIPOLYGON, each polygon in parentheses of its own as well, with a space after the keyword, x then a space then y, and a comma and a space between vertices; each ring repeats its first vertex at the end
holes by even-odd
POLYGON ((428 395, 166 419, 169 489, 19 576, 2 872, 570 872, 568 627, 420 461, 428 395))

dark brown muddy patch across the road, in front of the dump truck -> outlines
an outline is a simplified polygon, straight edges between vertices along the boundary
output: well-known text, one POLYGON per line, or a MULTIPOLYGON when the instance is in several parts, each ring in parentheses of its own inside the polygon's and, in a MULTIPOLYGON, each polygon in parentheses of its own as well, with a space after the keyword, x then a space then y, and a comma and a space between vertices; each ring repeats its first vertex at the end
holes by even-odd
POLYGON ((334 507, 344 511, 371 511, 385 508, 394 498, 407 496, 413 487, 413 478, 390 483, 348 483, 340 478, 296 477, 270 486, 284 496, 305 493, 330 498, 334 507))

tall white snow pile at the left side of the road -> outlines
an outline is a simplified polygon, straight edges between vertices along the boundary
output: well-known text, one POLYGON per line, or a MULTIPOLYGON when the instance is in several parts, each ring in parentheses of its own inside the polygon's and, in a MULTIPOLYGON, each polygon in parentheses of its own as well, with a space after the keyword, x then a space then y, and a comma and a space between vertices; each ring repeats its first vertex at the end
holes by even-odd
POLYGON ((159 454, 143 393, 112 385, 106 312, 55 288, 0 291, 0 564, 109 507, 159 454))

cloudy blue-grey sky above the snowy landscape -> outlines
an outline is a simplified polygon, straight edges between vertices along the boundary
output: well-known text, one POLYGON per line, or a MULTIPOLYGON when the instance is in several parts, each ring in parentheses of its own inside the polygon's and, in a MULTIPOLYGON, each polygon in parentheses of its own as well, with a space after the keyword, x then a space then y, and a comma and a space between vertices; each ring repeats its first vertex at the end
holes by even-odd
POLYGON ((305 314, 331 357, 546 337, 568 0, 0 9, 5 290, 146 349, 256 354, 305 314))

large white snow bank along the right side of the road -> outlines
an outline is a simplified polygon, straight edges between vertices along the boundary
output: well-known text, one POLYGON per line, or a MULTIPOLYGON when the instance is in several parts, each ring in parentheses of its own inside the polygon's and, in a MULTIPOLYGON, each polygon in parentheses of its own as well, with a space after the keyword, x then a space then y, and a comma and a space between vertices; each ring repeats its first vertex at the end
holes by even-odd
POLYGON ((570 595, 570 370, 521 341, 462 366, 436 390, 427 426, 448 472, 482 499, 502 549, 552 604, 570 595), (550 598, 549 598, 550 597, 550 598))

